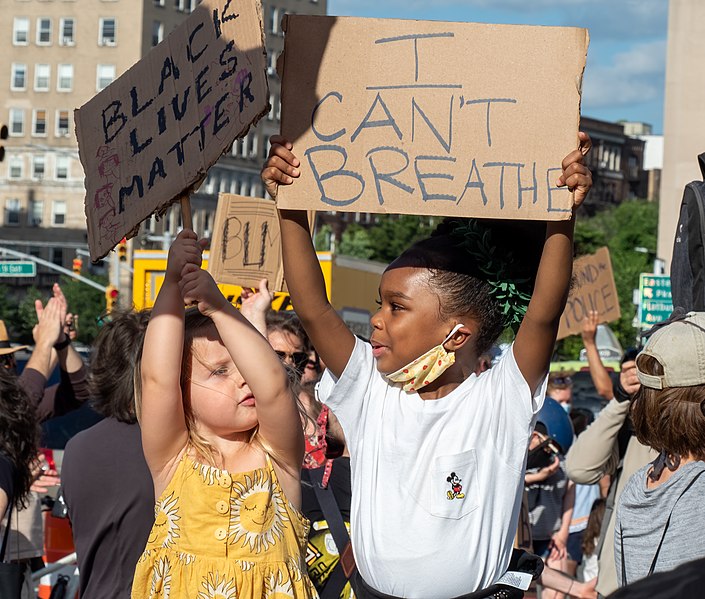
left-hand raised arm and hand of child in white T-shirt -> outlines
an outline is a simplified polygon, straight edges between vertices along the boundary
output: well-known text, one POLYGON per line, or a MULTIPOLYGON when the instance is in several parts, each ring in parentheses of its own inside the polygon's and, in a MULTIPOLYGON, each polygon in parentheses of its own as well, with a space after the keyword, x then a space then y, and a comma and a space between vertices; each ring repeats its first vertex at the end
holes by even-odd
MULTIPOLYGON (((269 195, 276 199, 279 185, 291 185, 299 177, 300 163, 289 141, 273 136, 271 142, 262 181, 269 195)), ((355 336, 328 301, 306 212, 280 210, 279 221, 284 276, 294 309, 316 351, 330 371, 339 377, 355 347, 355 336)))

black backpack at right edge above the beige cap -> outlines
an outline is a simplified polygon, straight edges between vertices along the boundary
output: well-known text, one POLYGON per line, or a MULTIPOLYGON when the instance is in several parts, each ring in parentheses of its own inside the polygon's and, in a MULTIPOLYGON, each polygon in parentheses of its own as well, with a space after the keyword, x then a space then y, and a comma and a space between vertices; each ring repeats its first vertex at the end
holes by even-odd
POLYGON ((671 260, 673 307, 705 311, 705 153, 698 156, 703 181, 685 186, 671 260))

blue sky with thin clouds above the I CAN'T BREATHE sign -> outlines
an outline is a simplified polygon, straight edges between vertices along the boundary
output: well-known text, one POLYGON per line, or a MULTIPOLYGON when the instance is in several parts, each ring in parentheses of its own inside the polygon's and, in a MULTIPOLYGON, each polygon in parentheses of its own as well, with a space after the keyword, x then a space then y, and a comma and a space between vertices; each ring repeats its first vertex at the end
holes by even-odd
POLYGON ((663 132, 668 0, 328 0, 328 14, 585 27, 582 114, 663 132))

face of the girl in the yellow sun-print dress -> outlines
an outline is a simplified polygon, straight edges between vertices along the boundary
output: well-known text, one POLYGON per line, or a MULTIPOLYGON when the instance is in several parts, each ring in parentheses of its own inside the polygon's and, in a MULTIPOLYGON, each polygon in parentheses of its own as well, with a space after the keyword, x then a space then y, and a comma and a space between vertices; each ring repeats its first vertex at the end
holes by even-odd
POLYGON ((193 341, 190 396, 199 432, 229 437, 257 426, 255 397, 218 336, 193 341))

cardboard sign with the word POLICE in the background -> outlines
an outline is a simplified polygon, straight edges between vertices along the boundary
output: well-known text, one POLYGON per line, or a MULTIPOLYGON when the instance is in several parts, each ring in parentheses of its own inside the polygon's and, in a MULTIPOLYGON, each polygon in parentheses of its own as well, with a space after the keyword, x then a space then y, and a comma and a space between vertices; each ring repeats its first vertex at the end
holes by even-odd
POLYGON ((600 323, 618 320, 621 315, 610 251, 606 247, 573 262, 573 284, 561 316, 558 339, 580 333, 583 319, 593 310, 597 311, 600 323))

